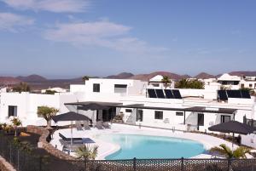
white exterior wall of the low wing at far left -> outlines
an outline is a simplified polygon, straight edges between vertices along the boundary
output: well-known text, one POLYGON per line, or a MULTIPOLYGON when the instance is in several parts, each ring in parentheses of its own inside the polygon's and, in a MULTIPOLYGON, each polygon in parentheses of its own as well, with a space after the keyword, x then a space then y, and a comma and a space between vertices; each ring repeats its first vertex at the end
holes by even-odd
POLYGON ((17 117, 23 123, 45 125, 44 118, 38 117, 38 106, 47 105, 60 110, 60 113, 67 112, 64 105, 67 102, 76 101, 73 94, 29 94, 29 93, 4 93, 1 94, 0 121, 9 120, 9 105, 17 106, 17 117))

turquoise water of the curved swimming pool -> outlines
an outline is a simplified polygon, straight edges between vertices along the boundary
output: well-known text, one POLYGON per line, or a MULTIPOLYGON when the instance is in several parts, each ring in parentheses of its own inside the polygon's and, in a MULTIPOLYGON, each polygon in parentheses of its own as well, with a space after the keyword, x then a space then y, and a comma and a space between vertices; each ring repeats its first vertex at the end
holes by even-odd
POLYGON ((204 146, 193 140, 171 137, 134 135, 134 134, 98 134, 100 140, 119 144, 121 149, 107 160, 137 158, 180 158, 194 157, 205 151, 204 146))

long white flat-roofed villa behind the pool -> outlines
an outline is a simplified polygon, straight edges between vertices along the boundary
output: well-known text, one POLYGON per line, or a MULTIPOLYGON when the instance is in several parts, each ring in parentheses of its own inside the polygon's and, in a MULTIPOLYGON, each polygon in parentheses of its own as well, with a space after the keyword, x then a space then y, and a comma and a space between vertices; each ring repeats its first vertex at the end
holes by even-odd
MULTIPOLYGON (((82 113, 90 117, 92 123, 97 120, 108 122, 114 116, 123 114, 124 123, 127 124, 182 131, 209 132, 208 128, 218 123, 256 120, 253 96, 236 96, 233 92, 228 92, 227 99, 223 99, 222 93, 218 92, 218 83, 206 84, 205 89, 174 89, 172 81, 165 88, 160 83, 161 78, 156 76, 149 82, 90 78, 84 84, 71 85, 70 92, 56 94, 3 91, 0 97, 0 123, 7 122, 9 117, 14 116, 19 117, 23 125, 44 125, 44 119, 37 114, 40 105, 55 107, 60 113, 82 113), (105 105, 110 109, 78 109, 78 106, 90 103, 105 105)), ((223 77, 218 81, 220 80, 223 82, 223 77)))

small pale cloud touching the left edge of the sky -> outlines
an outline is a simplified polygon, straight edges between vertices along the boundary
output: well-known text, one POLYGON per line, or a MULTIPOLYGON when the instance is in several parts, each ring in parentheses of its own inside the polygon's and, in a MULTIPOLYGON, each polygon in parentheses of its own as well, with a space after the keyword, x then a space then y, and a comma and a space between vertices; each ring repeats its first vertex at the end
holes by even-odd
POLYGON ((0 13, 0 30, 16 32, 24 26, 32 25, 33 22, 34 20, 26 16, 12 13, 0 13))

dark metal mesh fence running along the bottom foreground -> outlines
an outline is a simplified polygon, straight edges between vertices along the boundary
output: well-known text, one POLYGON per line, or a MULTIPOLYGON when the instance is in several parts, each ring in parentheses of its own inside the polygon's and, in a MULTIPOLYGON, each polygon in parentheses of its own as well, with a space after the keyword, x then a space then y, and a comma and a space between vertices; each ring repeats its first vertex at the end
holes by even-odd
POLYGON ((256 171, 256 159, 65 161, 29 153, 3 137, 0 137, 0 155, 18 171, 256 171))

